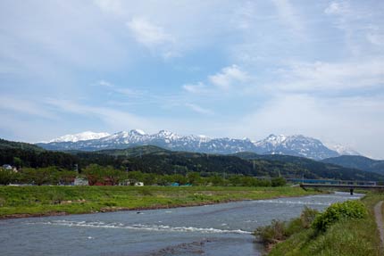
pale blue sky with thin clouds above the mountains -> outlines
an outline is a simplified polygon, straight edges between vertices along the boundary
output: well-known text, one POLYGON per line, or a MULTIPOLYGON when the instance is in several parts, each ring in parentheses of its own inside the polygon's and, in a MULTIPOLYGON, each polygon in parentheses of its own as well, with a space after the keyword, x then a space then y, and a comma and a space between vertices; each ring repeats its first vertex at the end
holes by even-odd
POLYGON ((384 159, 384 1, 0 0, 0 137, 302 134, 384 159))

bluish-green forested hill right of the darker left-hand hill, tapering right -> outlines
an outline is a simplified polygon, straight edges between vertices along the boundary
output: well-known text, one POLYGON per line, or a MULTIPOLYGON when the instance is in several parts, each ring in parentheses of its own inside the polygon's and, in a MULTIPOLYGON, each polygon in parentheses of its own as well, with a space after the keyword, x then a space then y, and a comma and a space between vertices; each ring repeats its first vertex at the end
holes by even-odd
MULTIPOLYGON (((107 153, 125 159, 129 169, 141 169, 159 173, 226 172, 253 176, 278 176, 305 178, 336 178, 383 180, 383 176, 359 169, 313 161, 287 155, 259 155, 236 153, 232 155, 172 152, 156 146, 140 146, 125 150, 110 150, 107 153)), ((87 153, 86 153, 87 154, 87 153)), ((123 162, 124 162, 123 161, 123 162)))

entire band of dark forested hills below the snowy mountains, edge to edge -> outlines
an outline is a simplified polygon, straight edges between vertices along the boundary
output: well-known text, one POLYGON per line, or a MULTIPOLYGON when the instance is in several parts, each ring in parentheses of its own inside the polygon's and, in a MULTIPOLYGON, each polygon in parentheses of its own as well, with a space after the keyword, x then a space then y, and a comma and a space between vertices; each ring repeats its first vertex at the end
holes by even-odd
MULTIPOLYGON (((3 145, 13 145, 4 141, 3 145)), ((157 174, 186 174, 196 171, 206 174, 244 174, 301 178, 335 178, 358 180, 384 180, 384 177, 359 169, 348 169, 338 165, 312 161, 285 155, 258 155, 237 153, 233 155, 172 152, 160 147, 146 145, 123 150, 100 152, 51 152, 38 147, 0 146, 0 164, 9 163, 21 167, 58 166, 64 169, 79 170, 91 163, 111 165, 116 169, 140 170, 157 174)))

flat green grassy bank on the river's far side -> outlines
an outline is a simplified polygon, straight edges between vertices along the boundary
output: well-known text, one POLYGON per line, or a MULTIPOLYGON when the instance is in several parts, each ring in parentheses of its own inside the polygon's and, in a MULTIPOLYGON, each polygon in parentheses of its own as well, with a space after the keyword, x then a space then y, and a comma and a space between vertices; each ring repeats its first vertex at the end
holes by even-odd
POLYGON ((0 219, 197 206, 319 194, 300 187, 0 186, 0 219))

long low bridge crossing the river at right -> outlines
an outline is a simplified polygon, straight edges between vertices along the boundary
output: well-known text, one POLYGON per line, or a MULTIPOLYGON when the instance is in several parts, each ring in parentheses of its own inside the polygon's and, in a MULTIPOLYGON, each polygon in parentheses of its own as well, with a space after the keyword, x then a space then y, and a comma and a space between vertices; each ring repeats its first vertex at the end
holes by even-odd
POLYGON ((341 180, 338 183, 336 183, 336 182, 321 183, 319 180, 319 182, 300 183, 300 186, 304 189, 306 187, 346 188, 346 189, 349 189, 350 194, 354 194, 354 190, 359 189, 359 188, 360 189, 383 189, 384 190, 384 186, 378 186, 378 185, 376 185, 376 182, 374 182, 374 181, 345 181, 345 180, 341 180))

